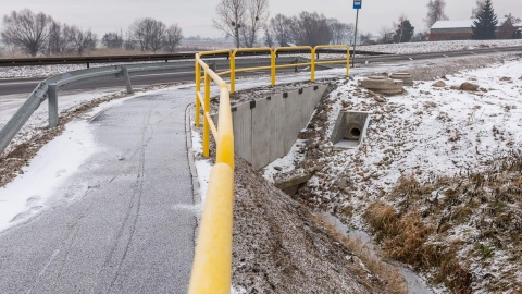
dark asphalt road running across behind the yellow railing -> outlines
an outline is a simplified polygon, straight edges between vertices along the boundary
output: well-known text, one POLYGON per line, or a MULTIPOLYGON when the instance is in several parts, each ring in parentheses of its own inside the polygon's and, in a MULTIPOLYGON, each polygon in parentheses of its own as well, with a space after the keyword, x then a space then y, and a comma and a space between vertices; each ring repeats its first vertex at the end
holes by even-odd
MULTIPOLYGON (((463 51, 445 51, 436 53, 414 53, 414 54, 391 54, 391 56, 357 56, 356 63, 377 63, 377 62, 394 62, 394 61, 408 61, 408 60, 430 60, 439 58, 451 57, 465 57, 465 56, 478 56, 490 54, 498 52, 522 52, 522 46, 519 47, 505 47, 505 48, 478 48, 463 51)), ((289 72, 293 69, 277 70, 277 72, 289 72)), ((259 73, 259 72, 258 72, 259 73)), ((239 73, 238 76, 252 75, 258 73, 239 73)), ((268 72, 266 72, 268 73, 268 72)), ((172 83, 172 82, 185 82, 194 81, 194 71, 188 72, 157 72, 153 74, 137 74, 132 75, 132 83, 136 86, 152 85, 159 83, 172 83)), ((41 82, 42 78, 0 78, 0 96, 12 94, 30 94, 33 89, 41 82)), ((85 83, 78 83, 65 87, 64 89, 94 89, 94 88, 107 88, 107 87, 122 87, 124 88, 124 82, 122 78, 103 78, 96 81, 88 81, 85 83)))

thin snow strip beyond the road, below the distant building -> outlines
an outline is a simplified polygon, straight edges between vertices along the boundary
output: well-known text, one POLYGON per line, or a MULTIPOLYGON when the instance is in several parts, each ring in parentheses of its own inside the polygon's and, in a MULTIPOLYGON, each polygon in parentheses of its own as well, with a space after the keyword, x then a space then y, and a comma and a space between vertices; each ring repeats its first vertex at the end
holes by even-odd
POLYGON ((522 40, 456 40, 456 41, 421 41, 402 44, 383 44, 358 46, 364 51, 385 52, 394 54, 431 53, 442 51, 461 51, 475 48, 495 48, 522 46, 522 40))

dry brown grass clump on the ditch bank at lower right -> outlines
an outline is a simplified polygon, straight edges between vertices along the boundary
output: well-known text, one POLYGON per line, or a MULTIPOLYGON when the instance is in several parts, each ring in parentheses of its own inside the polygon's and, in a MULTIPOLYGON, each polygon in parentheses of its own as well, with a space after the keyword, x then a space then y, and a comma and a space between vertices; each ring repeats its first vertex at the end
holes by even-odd
POLYGON ((515 273, 522 252, 522 151, 502 154, 483 171, 424 183, 402 176, 387 197, 394 206, 376 201, 364 217, 390 258, 432 272, 432 282, 455 293, 470 293, 476 277, 469 265, 475 264, 474 272, 476 264, 486 269, 502 250, 501 262, 513 271, 488 278, 486 291, 522 286, 515 273), (473 235, 455 238, 461 225, 473 235))

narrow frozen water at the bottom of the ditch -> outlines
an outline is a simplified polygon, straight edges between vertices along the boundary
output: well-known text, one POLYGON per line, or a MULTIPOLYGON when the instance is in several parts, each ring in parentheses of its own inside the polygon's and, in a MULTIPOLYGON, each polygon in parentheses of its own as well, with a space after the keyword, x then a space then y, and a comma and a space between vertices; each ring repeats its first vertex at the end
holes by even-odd
MULTIPOLYGON (((363 231, 359 230, 350 230, 346 224, 340 222, 339 219, 336 217, 327 213, 327 212, 321 212, 321 216, 323 216, 330 223, 335 225, 337 230, 343 233, 343 235, 348 236, 350 238, 360 238, 362 243, 368 246, 370 254, 372 257, 377 257, 377 254, 375 253, 372 240, 370 238, 370 235, 368 235, 363 231)), ((393 267, 395 267, 402 277, 405 277, 405 280, 408 283, 408 293, 411 294, 434 294, 435 292, 430 289, 430 286, 426 284, 426 282, 419 277, 415 272, 407 268, 405 265, 401 265, 399 262, 388 262, 393 267)))

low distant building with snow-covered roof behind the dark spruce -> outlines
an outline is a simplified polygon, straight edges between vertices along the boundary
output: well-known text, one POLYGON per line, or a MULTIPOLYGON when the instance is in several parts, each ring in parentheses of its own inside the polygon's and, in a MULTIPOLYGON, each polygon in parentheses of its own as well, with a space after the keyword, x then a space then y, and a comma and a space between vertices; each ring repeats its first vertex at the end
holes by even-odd
MULTIPOLYGON (((476 20, 464 21, 438 21, 430 28, 430 40, 471 40, 472 26, 476 20)), ((497 39, 512 39, 517 28, 509 19, 498 19, 496 35, 497 39)))

